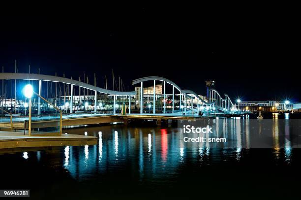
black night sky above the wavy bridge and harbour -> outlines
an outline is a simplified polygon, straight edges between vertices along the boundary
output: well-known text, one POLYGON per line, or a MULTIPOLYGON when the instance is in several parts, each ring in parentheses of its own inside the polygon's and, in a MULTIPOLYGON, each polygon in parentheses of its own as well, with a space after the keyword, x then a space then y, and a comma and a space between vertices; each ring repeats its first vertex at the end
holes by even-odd
POLYGON ((109 89, 114 68, 132 90, 133 79, 155 75, 201 95, 214 79, 232 98, 301 100, 295 17, 281 8, 24 8, 1 14, 0 66, 13 72, 17 59, 19 72, 91 81, 95 72, 109 89))

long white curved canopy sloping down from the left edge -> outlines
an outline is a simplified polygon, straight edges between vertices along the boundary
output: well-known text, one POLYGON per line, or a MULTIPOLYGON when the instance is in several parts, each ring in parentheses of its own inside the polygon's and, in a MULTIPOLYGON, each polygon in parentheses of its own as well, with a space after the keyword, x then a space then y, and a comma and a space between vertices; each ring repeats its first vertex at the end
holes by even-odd
POLYGON ((97 91, 104 94, 109 95, 135 95, 136 92, 119 92, 113 90, 106 90, 103 88, 95 87, 93 85, 83 83, 74 79, 63 78, 60 76, 51 76, 51 75, 44 75, 44 74, 34 74, 34 73, 0 73, 0 80, 5 79, 20 79, 20 80, 43 80, 43 81, 50 81, 50 82, 60 82, 60 83, 67 83, 73 84, 76 86, 80 86, 82 88, 87 88, 89 90, 97 91))

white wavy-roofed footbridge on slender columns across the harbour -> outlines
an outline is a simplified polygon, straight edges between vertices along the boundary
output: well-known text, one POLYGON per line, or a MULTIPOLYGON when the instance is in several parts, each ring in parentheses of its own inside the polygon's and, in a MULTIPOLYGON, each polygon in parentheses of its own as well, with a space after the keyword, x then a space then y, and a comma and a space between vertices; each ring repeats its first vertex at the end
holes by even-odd
MULTIPOLYGON (((44 74, 0 73, 0 79, 2 82, 15 80, 16 84, 19 83, 19 87, 24 82, 30 83, 33 85, 34 91, 41 96, 47 89, 47 96, 50 94, 50 98, 48 97, 47 100, 60 108, 63 113, 63 121, 87 120, 108 115, 118 116, 122 108, 127 114, 155 117, 197 117, 199 113, 209 116, 213 113, 234 113, 236 111, 235 104, 227 94, 220 95, 215 89, 211 89, 209 97, 204 97, 189 89, 181 89, 175 82, 159 76, 133 80, 132 84, 136 86, 136 89, 129 92, 97 87, 95 78, 94 85, 90 85, 86 81, 86 77, 82 82, 80 78, 77 81, 72 78, 44 74)), ((18 96, 15 94, 15 97, 12 96, 10 99, 16 100, 7 105, 2 95, 1 108, 11 114, 19 113, 12 117, 11 121, 18 122, 20 125, 28 120, 27 99, 24 96, 20 97, 20 94, 18 96)), ((54 113, 55 110, 52 109, 52 106, 40 98, 33 101, 32 107, 33 112, 36 112, 32 115, 33 124, 58 120, 58 114, 54 113)), ((115 120, 114 117, 112 119, 115 120)), ((9 124, 9 121, 8 117, 2 116, 1 123, 9 124)))

